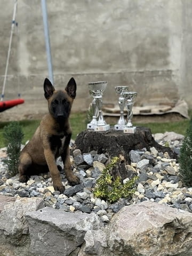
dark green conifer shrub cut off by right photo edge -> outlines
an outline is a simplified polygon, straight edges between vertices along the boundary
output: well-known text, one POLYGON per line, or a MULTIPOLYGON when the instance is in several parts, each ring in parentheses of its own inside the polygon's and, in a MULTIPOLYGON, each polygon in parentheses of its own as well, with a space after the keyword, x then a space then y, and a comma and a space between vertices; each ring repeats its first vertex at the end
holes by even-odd
POLYGON ((186 186, 192 186, 192 118, 180 149, 179 163, 182 181, 186 186))

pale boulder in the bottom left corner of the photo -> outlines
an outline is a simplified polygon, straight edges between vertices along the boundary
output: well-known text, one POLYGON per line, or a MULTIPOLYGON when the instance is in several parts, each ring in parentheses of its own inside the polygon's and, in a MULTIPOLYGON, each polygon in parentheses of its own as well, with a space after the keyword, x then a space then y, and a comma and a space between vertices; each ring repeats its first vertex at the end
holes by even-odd
POLYGON ((0 255, 30 256, 29 228, 25 213, 42 209, 45 206, 43 199, 37 197, 17 199, 1 197, 1 199, 0 255))

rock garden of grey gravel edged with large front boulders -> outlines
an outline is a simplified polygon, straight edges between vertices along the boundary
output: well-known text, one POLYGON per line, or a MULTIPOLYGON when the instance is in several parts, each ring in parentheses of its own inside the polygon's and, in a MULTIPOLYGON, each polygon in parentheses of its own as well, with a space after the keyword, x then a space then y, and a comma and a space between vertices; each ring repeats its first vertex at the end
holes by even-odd
POLYGON ((191 255, 192 188, 183 185, 177 160, 183 138, 174 132, 154 134, 172 155, 155 147, 130 150, 123 183, 138 179, 134 193, 116 202, 94 196, 97 179, 111 161, 108 154, 84 153, 71 141, 71 163, 81 184, 70 186, 59 158, 66 187, 60 194, 49 173, 31 176, 27 183, 18 175, 8 178, 2 148, 1 255, 191 255))

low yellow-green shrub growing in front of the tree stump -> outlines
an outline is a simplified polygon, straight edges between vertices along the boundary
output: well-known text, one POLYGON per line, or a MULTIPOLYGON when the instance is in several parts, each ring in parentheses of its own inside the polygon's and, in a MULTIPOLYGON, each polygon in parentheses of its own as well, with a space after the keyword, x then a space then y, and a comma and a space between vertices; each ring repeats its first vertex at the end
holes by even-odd
POLYGON ((113 181, 110 171, 119 161, 120 159, 118 157, 114 157, 111 159, 111 163, 103 169, 93 190, 95 197, 100 197, 113 203, 118 201, 119 198, 129 197, 135 192, 133 187, 135 185, 135 180, 138 179, 137 176, 133 177, 125 184, 121 183, 121 179, 119 177, 113 181))

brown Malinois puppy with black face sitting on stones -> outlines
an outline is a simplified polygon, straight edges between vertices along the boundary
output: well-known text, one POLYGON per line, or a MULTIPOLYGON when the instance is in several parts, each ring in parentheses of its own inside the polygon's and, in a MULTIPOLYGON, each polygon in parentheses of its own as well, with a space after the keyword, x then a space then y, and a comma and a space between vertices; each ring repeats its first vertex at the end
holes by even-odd
POLYGON ((79 183, 71 171, 69 142, 71 128, 69 114, 76 97, 76 82, 71 78, 66 89, 55 90, 49 79, 44 81, 44 95, 48 101, 49 114, 45 115, 33 138, 22 149, 19 158, 20 182, 26 182, 30 175, 40 172, 51 172, 53 187, 64 192, 60 173, 55 159, 61 156, 66 178, 73 185, 79 183))

